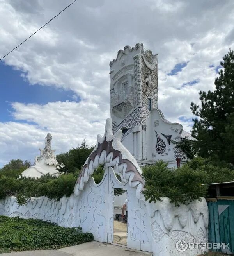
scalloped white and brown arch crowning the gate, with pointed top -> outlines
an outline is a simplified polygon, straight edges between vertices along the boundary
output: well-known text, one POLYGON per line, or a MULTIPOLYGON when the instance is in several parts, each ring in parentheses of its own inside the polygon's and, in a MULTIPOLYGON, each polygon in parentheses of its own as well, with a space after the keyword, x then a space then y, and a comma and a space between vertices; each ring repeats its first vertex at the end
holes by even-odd
POLYGON ((137 188, 137 198, 143 199, 140 193, 144 181, 142 179, 142 171, 138 166, 136 159, 121 143, 122 131, 119 130, 113 135, 112 132, 112 119, 106 120, 104 136, 97 136, 97 144, 85 161, 85 164, 78 177, 74 187, 74 196, 77 197, 81 190, 83 190, 84 183, 89 181, 94 170, 102 165, 104 162, 116 166, 116 171, 121 173, 124 179, 129 180, 131 187, 137 188))

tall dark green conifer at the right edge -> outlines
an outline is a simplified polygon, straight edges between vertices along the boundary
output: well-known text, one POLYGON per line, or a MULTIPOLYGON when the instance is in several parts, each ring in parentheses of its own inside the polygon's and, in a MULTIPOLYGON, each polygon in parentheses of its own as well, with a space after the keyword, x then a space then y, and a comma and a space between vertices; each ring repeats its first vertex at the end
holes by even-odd
POLYGON ((234 164, 234 52, 229 50, 220 63, 215 91, 200 91, 201 106, 191 102, 192 136, 197 139, 199 156, 210 156, 234 164))

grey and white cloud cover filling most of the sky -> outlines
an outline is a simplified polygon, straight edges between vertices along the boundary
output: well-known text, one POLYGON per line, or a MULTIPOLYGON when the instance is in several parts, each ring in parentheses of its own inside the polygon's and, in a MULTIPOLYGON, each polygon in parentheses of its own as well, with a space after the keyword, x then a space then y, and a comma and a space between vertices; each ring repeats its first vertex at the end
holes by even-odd
MULTIPOLYGON (((0 55, 66 4, 0 0, 0 55)), ((144 43, 158 53, 159 107, 165 117, 173 122, 191 118, 190 102, 199 102, 198 91, 214 89, 216 72, 209 66, 218 66, 234 48, 233 21, 232 0, 75 2, 4 61, 24 72, 30 84, 70 89, 81 101, 13 103, 12 115, 20 123, 0 123, 0 165, 18 156, 32 159, 47 131, 58 152, 76 147, 84 137, 92 144, 109 116, 109 61, 127 44, 144 43), (181 72, 167 75, 183 62, 188 64, 181 72), (198 83, 178 90, 194 80, 198 83)), ((190 122, 181 123, 190 130, 190 122)))

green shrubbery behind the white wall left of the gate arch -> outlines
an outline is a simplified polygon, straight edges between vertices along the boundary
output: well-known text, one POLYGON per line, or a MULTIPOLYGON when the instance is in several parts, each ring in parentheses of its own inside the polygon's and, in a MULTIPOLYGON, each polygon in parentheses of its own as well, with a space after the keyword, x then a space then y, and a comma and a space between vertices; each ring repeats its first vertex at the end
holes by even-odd
MULTIPOLYGON (((60 170, 59 177, 45 175, 40 179, 20 177, 20 174, 30 166, 30 162, 23 162, 20 159, 11 160, 7 165, 0 168, 0 199, 7 196, 15 196, 18 204, 23 205, 30 197, 46 196, 50 199, 59 200, 62 197, 69 197, 74 190, 76 180, 80 174, 79 165, 89 157, 92 147, 87 147, 85 141, 76 149, 71 149, 64 154, 57 156, 60 164, 65 163, 67 167, 60 170), (81 157, 78 161, 76 158, 81 157), (19 178, 20 177, 20 178, 19 178)), ((96 184, 100 183, 103 174, 103 166, 99 166, 92 175, 96 184)), ((115 190, 115 195, 121 195, 122 189, 115 190)))

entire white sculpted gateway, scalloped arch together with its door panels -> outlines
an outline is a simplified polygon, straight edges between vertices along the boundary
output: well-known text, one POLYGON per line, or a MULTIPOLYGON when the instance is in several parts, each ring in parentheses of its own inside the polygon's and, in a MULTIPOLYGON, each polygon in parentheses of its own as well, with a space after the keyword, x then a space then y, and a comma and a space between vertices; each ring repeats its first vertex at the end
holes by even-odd
POLYGON ((152 251, 151 235, 147 235, 149 227, 145 227, 145 205, 140 193, 144 180, 137 161, 121 143, 122 131, 112 133, 112 120, 106 120, 104 136, 97 136, 97 144, 89 158, 85 161, 74 188, 74 197, 78 197, 76 214, 77 226, 84 231, 92 232, 94 240, 113 242, 113 201, 114 188, 125 188, 128 191, 128 247, 144 251, 152 251), (90 178, 94 170, 106 163, 103 179, 96 184, 90 178), (113 168, 111 166, 115 166, 113 168), (121 183, 115 172, 126 179, 121 183), (143 220, 144 219, 144 220, 143 220))

